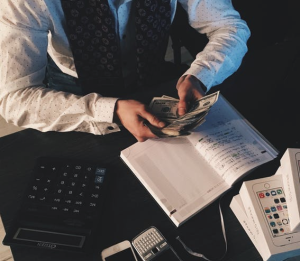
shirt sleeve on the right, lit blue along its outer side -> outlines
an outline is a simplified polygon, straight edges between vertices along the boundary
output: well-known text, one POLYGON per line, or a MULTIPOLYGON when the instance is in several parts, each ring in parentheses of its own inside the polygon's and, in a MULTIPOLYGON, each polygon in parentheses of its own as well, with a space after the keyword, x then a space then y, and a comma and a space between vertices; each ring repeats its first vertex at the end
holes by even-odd
POLYGON ((207 91, 233 74, 247 52, 250 30, 231 0, 179 0, 190 25, 209 41, 185 72, 197 77, 207 91))

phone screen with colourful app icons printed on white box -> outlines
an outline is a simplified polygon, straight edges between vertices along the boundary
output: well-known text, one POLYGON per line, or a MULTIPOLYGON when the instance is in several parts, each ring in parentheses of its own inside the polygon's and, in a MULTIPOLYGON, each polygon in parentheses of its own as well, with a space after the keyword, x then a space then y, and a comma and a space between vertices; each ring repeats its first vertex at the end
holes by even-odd
POLYGON ((273 238, 291 233, 288 209, 282 187, 256 193, 273 238))

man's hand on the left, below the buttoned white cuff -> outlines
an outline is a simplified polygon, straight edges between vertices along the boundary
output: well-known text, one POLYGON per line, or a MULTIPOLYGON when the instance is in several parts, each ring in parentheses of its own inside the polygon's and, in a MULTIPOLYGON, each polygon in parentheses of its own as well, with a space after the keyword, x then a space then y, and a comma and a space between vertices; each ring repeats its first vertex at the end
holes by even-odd
POLYGON ((145 120, 158 128, 165 126, 165 123, 154 116, 145 104, 135 100, 118 100, 115 114, 122 125, 140 142, 149 138, 157 138, 157 136, 144 125, 145 120))

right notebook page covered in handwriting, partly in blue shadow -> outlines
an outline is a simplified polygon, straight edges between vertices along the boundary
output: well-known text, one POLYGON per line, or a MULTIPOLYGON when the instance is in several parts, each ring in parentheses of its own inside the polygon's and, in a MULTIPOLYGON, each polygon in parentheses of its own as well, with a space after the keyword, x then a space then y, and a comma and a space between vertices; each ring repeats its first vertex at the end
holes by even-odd
POLYGON ((188 139, 229 185, 276 155, 221 95, 188 139))

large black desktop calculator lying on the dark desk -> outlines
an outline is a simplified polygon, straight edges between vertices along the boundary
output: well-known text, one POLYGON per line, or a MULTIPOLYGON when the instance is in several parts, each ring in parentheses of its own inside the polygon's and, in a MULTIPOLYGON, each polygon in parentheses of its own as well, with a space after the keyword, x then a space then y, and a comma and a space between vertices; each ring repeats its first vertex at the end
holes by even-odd
POLYGON ((4 245, 90 251, 101 223, 108 168, 83 160, 41 157, 4 245))

